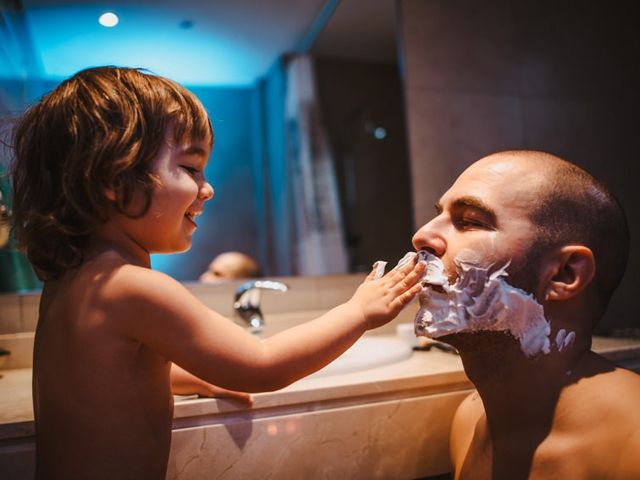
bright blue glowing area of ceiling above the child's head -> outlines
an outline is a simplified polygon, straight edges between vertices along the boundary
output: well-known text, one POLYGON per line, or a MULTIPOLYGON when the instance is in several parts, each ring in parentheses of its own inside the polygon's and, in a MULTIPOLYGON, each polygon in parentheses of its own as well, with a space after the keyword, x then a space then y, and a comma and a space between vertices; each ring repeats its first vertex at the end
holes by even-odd
POLYGON ((118 28, 95 19, 99 6, 33 7, 26 10, 44 74, 60 81, 84 68, 117 65, 146 68, 186 85, 252 86, 273 58, 234 35, 215 28, 181 27, 184 18, 161 7, 122 5, 118 28))

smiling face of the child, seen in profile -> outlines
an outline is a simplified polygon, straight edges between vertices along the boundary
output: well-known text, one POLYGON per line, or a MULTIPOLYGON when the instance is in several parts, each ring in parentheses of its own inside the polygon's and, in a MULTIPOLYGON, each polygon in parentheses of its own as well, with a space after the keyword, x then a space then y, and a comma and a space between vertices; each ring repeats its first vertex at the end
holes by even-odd
POLYGON ((213 187, 204 178, 211 148, 206 140, 176 142, 172 132, 154 160, 151 172, 160 185, 152 195, 147 213, 134 221, 136 241, 149 253, 183 252, 204 202, 213 198, 213 187))

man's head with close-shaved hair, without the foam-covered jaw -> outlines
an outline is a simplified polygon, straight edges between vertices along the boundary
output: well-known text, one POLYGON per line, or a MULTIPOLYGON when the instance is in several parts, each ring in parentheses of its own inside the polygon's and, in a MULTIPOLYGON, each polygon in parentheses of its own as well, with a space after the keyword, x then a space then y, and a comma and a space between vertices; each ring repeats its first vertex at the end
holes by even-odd
POLYGON ((553 155, 483 158, 436 207, 413 242, 441 257, 449 273, 458 256, 495 268, 511 261, 510 284, 540 301, 580 298, 592 321, 624 273, 629 238, 618 202, 590 174, 553 155))

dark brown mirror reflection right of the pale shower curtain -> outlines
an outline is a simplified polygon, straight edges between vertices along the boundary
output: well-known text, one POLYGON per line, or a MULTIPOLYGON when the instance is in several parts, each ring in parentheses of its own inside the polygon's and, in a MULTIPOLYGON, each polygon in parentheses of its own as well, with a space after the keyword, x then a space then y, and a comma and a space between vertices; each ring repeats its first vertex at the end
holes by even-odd
POLYGON ((396 2, 341 2, 312 48, 349 271, 396 261, 413 231, 396 2))

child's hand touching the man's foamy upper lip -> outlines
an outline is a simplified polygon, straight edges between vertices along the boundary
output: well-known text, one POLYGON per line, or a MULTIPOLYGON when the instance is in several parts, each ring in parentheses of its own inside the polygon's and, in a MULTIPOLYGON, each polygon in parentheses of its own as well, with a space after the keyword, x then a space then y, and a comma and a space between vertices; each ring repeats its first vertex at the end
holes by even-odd
POLYGON ((367 330, 380 327, 394 319, 420 292, 422 285, 419 280, 425 268, 424 261, 408 262, 376 280, 374 265, 371 273, 347 303, 361 310, 367 330))

